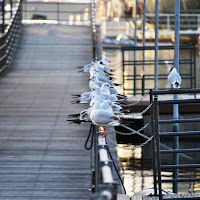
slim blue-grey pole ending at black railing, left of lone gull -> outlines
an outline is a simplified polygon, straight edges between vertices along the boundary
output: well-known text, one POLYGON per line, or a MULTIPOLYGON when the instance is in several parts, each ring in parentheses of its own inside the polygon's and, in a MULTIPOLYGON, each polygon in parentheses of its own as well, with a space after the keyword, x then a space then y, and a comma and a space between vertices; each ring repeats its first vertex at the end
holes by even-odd
POLYGON ((154 88, 158 90, 158 21, 159 21, 159 0, 155 4, 155 83, 154 88))

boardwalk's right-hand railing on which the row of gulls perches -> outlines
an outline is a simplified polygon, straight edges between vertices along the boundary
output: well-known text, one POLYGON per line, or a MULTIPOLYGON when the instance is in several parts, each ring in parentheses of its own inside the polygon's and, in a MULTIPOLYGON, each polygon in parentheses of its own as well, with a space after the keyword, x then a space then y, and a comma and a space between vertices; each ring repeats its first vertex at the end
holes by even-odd
MULTIPOLYGON (((101 59, 101 50, 99 46, 98 27, 96 25, 96 12, 95 1, 91 0, 91 31, 93 41, 93 59, 101 59)), ((93 125, 92 125, 93 126, 93 125)), ((105 138, 99 137, 99 133, 96 130, 96 126, 93 129, 94 133, 94 160, 93 170, 93 193, 92 200, 116 200, 117 199, 117 186, 118 182, 113 179, 113 161, 109 159, 109 147, 106 144, 105 138)))

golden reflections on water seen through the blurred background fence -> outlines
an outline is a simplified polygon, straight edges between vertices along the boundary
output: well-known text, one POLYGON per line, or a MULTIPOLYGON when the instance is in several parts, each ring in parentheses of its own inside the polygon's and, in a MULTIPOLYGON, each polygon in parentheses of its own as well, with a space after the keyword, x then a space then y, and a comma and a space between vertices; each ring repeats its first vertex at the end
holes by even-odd
MULTIPOLYGON (((123 71, 122 71, 122 55, 121 55, 121 50, 120 49, 106 49, 103 51, 103 57, 107 57, 111 60, 111 63, 109 65, 109 67, 111 67, 112 69, 116 70, 114 73, 114 78, 115 78, 115 82, 117 83, 121 83, 123 82, 123 71)), ((125 52, 125 60, 133 60, 133 51, 129 51, 129 52, 125 52)), ((180 60, 182 59, 190 59, 190 52, 189 50, 180 50, 180 60)), ((143 52, 142 51, 137 51, 136 53, 136 58, 137 61, 142 61, 143 59, 143 52)), ((197 72, 199 72, 200 70, 198 70, 198 64, 199 64, 199 55, 196 55, 196 63, 197 63, 197 72)), ((146 60, 154 60, 154 51, 153 50, 146 50, 145 51, 145 59, 146 60)), ((158 59, 159 60, 173 60, 174 59, 174 50, 160 50, 158 52, 158 59)), ((159 88, 170 88, 170 84, 167 81, 167 75, 169 74, 169 70, 170 70, 170 66, 169 65, 158 65, 158 74, 165 74, 166 78, 159 80, 158 81, 158 86, 159 88)), ((180 64, 179 65, 179 71, 180 74, 190 74, 190 64, 180 64)), ((125 71, 124 71, 124 75, 133 75, 134 68, 133 66, 125 66, 125 71)), ((143 66, 142 65, 138 65, 136 67, 136 73, 138 75, 142 75, 144 74, 143 71, 143 66)), ((154 65, 146 65, 145 66, 145 74, 146 75, 153 75, 154 74, 154 65)), ((138 77, 138 78, 141 78, 138 77)), ((183 77, 183 76, 182 76, 183 77)), ((184 76, 186 77, 186 76, 184 76)), ((183 78, 184 78, 183 77, 183 78)), ((124 83, 124 87, 126 89, 130 89, 133 88, 134 82, 133 80, 126 80, 124 83)), ((199 87, 200 84, 197 83, 197 87, 199 87)), ((145 87, 147 89, 149 88, 154 88, 154 80, 145 80, 145 87)), ((184 81, 182 81, 182 88, 190 88, 191 87, 191 79, 184 79, 184 81)), ((136 88, 137 89, 141 89, 142 88, 142 81, 141 80, 137 80, 136 81, 136 88)), ((122 88, 118 88, 119 92, 122 93, 122 88)), ((131 93, 129 91, 125 91, 126 95, 130 95, 131 93)))

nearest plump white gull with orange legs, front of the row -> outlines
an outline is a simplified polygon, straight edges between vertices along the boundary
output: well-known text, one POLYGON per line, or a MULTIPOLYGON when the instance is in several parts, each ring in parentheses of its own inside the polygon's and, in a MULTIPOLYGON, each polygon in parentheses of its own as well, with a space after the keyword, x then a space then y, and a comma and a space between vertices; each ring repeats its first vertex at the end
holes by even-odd
POLYGON ((115 116, 113 111, 110 109, 110 101, 104 101, 102 104, 99 101, 95 102, 90 113, 90 118, 93 124, 103 127, 102 137, 105 137, 106 127, 119 126, 120 118, 115 116))

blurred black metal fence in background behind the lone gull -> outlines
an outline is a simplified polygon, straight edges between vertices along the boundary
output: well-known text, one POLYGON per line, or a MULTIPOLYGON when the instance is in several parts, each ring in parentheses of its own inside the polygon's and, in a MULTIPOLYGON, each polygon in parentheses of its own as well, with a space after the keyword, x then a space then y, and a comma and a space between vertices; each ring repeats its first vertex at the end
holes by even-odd
MULTIPOLYGON (((154 55, 155 46, 131 46, 122 47, 122 67, 123 67, 123 91, 128 95, 144 95, 149 88, 154 88, 154 66, 155 60, 151 59, 154 55), (133 59, 134 52, 137 53, 136 60, 133 59), (145 53, 146 59, 143 60, 142 53, 145 53), (141 59, 139 59, 141 58, 141 59), (143 72, 145 66, 145 72, 143 72)), ((159 46, 159 57, 164 57, 164 51, 174 50, 174 46, 159 46)), ((196 59, 195 46, 180 45, 180 51, 185 51, 186 56, 179 60, 180 74, 182 77, 182 88, 196 88, 196 59)), ((166 89, 165 83, 168 76, 168 64, 173 65, 173 58, 165 58, 158 60, 158 89, 166 89)))

